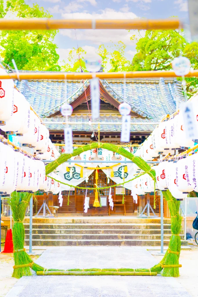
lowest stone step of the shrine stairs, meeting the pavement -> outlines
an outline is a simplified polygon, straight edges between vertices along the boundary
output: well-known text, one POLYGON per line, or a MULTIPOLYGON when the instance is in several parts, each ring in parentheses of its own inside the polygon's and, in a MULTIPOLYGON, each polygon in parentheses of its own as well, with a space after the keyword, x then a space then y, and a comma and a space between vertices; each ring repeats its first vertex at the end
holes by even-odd
MULTIPOLYGON (((160 246, 159 239, 32 239, 33 246, 160 246)), ((164 246, 168 246, 169 240, 164 240, 164 246)), ((29 245, 29 240, 25 239, 25 246, 29 245)), ((188 241, 181 241, 181 245, 188 245, 188 241)))

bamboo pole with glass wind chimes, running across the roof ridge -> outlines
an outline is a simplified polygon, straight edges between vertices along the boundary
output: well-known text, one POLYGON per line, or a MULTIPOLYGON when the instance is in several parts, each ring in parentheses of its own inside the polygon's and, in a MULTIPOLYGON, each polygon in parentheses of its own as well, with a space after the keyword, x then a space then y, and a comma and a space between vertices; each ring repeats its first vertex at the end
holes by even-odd
MULTIPOLYGON (((0 19, 1 20, 1 19, 0 19)), ((185 77, 198 77, 198 69, 190 70, 185 77)), ((134 72, 15 72, 0 75, 0 79, 20 80, 82 80, 98 77, 100 79, 130 79, 130 78, 174 78, 178 77, 173 70, 134 71, 134 72)))

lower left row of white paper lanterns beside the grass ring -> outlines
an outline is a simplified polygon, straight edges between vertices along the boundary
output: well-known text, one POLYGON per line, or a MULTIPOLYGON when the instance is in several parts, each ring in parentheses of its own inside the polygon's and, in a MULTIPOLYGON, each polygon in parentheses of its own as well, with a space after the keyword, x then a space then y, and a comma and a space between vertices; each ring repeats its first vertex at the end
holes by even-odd
MULTIPOLYGON (((9 196, 15 190, 31 193, 42 190, 53 194, 60 191, 60 184, 45 176, 45 165, 39 159, 32 159, 2 142, 0 156, 1 195, 9 196)), ((51 173, 51 176, 56 177, 56 174, 51 173)))

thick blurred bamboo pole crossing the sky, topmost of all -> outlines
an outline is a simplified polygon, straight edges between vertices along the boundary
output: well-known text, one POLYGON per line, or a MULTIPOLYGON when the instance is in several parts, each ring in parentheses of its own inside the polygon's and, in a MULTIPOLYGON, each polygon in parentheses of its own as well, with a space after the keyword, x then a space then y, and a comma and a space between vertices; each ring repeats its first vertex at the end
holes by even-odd
POLYGON ((168 30, 180 29, 183 25, 177 18, 172 19, 67 19, 20 18, 18 20, 0 19, 0 30, 56 30, 56 29, 136 29, 136 30, 168 30))

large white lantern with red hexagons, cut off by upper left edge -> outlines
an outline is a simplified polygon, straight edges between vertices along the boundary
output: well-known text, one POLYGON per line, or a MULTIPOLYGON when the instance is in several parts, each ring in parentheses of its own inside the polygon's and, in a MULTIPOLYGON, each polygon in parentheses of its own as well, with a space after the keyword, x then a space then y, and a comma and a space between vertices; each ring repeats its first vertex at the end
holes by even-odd
MULTIPOLYGON (((7 72, 0 67, 0 75, 7 72)), ((9 121, 13 114, 14 82, 12 79, 0 80, 0 121, 9 121)))

